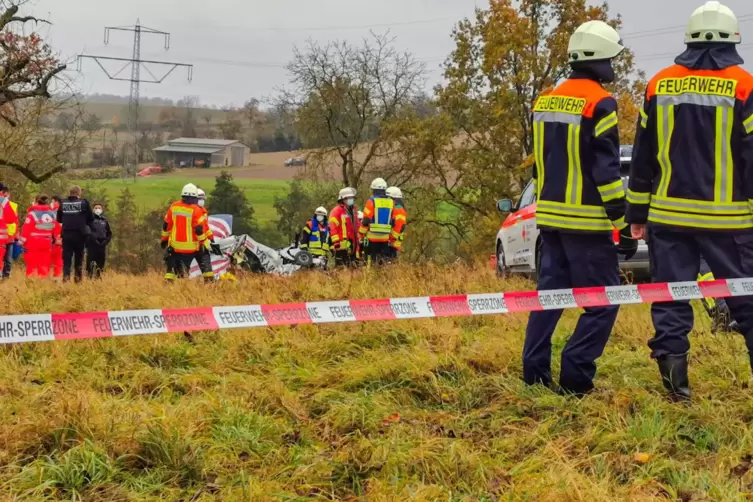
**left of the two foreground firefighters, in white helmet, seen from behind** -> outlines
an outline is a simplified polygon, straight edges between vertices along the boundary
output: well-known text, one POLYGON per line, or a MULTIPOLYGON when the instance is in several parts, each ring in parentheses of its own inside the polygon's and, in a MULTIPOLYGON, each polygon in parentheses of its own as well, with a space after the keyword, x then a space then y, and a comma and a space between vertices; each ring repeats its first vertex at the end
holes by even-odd
MULTIPOLYGON (((572 74, 534 106, 536 223, 541 230, 539 290, 613 286, 620 282, 613 229, 622 250, 635 253, 625 223, 620 178, 617 101, 603 83, 614 80, 612 60, 623 50, 619 34, 601 21, 581 25, 570 38, 572 74)), ((586 308, 562 352, 560 390, 593 389, 617 306, 586 308)), ((523 349, 523 379, 551 386, 552 334, 562 310, 533 312, 523 349)))

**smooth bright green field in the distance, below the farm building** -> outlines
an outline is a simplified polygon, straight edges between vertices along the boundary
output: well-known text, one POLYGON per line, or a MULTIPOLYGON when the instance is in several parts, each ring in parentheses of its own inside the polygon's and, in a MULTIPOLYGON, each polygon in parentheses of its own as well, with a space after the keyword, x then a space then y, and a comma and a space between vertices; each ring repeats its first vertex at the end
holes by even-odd
MULTIPOLYGON (((197 170, 198 171, 198 170, 197 170)), ((202 169, 201 171, 207 171, 202 169)), ((232 172, 232 171, 231 171, 232 172)), ((219 171, 212 171, 213 175, 219 171)), ((273 221, 277 217, 273 207, 275 196, 281 197, 287 193, 288 184, 281 180, 238 178, 236 184, 244 190, 246 197, 254 207, 254 216, 259 222, 273 221)), ((180 190, 186 183, 196 183, 200 188, 210 194, 214 189, 213 177, 197 177, 191 173, 176 173, 164 176, 151 176, 137 178, 136 181, 116 180, 82 180, 80 183, 85 187, 97 190, 105 190, 114 203, 120 191, 128 188, 134 195, 138 207, 153 209, 161 207, 165 202, 172 202, 180 198, 180 190)), ((94 202, 92 200, 92 202, 94 202)))

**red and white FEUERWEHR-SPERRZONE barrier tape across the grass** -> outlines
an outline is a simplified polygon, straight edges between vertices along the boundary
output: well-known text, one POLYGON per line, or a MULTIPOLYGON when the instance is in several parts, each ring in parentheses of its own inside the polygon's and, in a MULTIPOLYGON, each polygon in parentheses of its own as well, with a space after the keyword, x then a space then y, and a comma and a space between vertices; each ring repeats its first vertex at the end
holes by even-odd
POLYGON ((753 295, 753 278, 547 291, 0 316, 0 344, 298 324, 462 317, 753 295))

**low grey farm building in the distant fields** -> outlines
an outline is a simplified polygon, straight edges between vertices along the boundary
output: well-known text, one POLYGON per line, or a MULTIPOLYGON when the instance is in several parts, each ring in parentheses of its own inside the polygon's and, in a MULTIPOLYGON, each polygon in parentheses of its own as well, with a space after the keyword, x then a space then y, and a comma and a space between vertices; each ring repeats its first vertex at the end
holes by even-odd
POLYGON ((175 167, 241 167, 249 148, 233 139, 177 138, 154 149, 155 161, 175 167))

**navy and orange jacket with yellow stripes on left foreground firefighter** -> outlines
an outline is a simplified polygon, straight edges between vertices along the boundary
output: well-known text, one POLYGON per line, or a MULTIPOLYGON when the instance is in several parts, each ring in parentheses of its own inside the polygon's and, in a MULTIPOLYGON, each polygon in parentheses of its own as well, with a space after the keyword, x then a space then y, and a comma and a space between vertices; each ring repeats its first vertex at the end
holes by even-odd
POLYGON ((625 223, 617 101, 574 73, 536 100, 533 148, 539 227, 612 232, 625 223))

